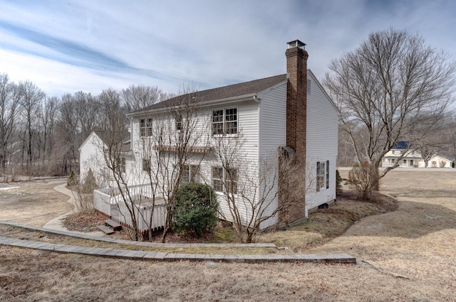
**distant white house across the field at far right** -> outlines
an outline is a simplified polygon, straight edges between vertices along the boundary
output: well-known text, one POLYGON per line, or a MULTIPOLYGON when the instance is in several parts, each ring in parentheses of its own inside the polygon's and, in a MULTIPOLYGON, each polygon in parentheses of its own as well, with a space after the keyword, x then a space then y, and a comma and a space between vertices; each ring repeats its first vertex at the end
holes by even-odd
POLYGON ((398 165, 398 168, 452 168, 454 159, 434 154, 426 162, 420 151, 410 149, 408 141, 398 141, 393 149, 383 156, 382 166, 391 167, 398 165))

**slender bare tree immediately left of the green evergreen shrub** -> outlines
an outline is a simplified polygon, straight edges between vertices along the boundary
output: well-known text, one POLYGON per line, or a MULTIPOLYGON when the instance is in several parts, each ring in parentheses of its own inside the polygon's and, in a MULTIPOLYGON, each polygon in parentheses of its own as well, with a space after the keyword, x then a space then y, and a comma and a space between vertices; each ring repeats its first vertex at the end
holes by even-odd
POLYGON ((180 97, 167 101, 165 107, 158 110, 159 114, 154 114, 152 144, 156 152, 153 168, 157 169, 156 181, 167 209, 162 242, 172 229, 177 190, 199 173, 199 164, 209 144, 209 121, 199 107, 202 99, 195 95, 195 89, 189 87, 180 97))

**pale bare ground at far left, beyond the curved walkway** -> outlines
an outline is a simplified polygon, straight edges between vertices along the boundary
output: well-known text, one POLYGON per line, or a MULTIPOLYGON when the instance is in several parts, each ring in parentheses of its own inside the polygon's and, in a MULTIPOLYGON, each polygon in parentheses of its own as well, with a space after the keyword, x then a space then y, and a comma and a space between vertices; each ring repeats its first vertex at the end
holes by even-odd
POLYGON ((73 210, 68 196, 53 190, 66 180, 33 180, 0 183, 0 220, 42 227, 49 220, 73 210))

